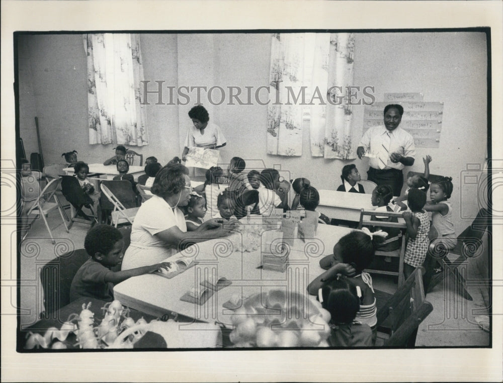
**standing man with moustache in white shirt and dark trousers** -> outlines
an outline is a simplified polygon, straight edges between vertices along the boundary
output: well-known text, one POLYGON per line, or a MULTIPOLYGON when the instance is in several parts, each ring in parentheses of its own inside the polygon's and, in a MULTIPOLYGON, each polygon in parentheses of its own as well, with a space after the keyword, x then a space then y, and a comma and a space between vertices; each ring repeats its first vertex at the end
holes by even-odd
POLYGON ((369 181, 389 185, 393 196, 399 196, 403 186, 404 166, 414 164, 415 146, 412 136, 401 129, 403 108, 390 104, 384 108, 384 125, 370 128, 358 144, 358 158, 369 157, 369 181))

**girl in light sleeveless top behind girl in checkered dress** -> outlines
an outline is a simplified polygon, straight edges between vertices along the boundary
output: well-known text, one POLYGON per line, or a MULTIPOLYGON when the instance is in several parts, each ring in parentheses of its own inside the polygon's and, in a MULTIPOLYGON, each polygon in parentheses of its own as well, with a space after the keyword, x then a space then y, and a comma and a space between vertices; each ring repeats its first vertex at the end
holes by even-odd
MULTIPOLYGON (((436 237, 433 239, 432 245, 435 247, 436 254, 452 250, 458 243, 452 223, 452 206, 447 201, 451 198, 453 188, 452 177, 444 177, 432 183, 430 185, 431 201, 423 208, 427 212, 432 212, 432 227, 435 228, 434 236, 436 237)), ((442 267, 438 265, 434 271, 439 273, 442 271, 442 267)))

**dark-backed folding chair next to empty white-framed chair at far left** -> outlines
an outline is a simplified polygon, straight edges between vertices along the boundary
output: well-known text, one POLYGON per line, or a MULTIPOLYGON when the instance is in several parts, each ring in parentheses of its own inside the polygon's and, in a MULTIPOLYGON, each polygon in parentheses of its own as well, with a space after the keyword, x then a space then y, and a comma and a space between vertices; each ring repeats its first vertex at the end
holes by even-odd
POLYGON ((71 228, 73 222, 86 223, 93 226, 98 223, 93 210, 93 200, 89 197, 82 188, 80 183, 78 183, 77 178, 72 175, 62 175, 61 176, 61 191, 66 200, 71 204, 75 211, 71 212, 70 223, 68 224, 68 229, 71 228), (82 208, 86 207, 91 210, 92 218, 90 218, 86 213, 82 211, 82 208), (78 217, 81 218, 78 218, 78 217))

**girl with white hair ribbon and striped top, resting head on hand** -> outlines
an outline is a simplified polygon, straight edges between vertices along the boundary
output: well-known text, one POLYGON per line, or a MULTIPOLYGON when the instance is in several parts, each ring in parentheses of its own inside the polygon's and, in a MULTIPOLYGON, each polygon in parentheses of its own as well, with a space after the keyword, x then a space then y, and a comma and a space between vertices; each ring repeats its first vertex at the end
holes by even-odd
POLYGON ((342 237, 333 246, 333 254, 323 257, 319 261, 321 268, 327 270, 317 276, 307 286, 307 291, 311 295, 318 294, 318 290, 327 282, 337 279, 339 274, 351 278, 351 282, 362 292, 360 298, 360 310, 356 319, 361 323, 366 323, 372 329, 373 340, 377 336, 377 308, 372 277, 368 272, 364 272, 374 259, 376 248, 387 236, 382 231, 370 232, 369 229, 353 230, 342 237))

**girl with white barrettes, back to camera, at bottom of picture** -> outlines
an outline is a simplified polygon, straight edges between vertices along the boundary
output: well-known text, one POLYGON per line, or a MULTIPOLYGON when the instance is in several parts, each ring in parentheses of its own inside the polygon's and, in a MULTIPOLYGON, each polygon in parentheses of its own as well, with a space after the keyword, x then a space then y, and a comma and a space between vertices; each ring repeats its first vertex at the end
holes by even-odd
POLYGON ((372 330, 369 325, 355 320, 360 310, 358 289, 349 279, 339 276, 318 290, 317 299, 331 317, 328 324, 330 336, 327 341, 332 347, 373 345, 372 330))

